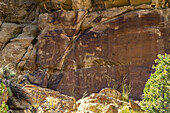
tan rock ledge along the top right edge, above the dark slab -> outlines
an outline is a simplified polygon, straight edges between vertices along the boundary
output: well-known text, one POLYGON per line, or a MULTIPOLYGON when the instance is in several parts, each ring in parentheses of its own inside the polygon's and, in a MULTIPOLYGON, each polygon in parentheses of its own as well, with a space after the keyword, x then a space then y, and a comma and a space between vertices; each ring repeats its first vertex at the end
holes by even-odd
POLYGON ((97 11, 113 7, 150 5, 154 8, 169 7, 167 0, 72 0, 72 9, 97 11))

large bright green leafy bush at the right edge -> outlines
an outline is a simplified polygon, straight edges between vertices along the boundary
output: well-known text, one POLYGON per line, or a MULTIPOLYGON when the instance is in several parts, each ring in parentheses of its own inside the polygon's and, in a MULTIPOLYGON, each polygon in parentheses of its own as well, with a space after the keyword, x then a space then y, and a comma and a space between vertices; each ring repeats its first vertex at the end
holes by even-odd
POLYGON ((147 113, 170 113, 170 55, 158 55, 144 88, 143 110, 147 113))

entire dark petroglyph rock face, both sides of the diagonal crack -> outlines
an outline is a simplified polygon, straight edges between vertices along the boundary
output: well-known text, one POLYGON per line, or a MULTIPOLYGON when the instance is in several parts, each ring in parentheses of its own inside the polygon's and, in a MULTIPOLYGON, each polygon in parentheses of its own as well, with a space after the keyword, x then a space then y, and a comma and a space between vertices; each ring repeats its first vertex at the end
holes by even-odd
POLYGON ((157 54, 169 53, 170 10, 132 11, 138 8, 40 15, 38 43, 22 68, 46 69, 49 75, 29 77, 48 78, 31 83, 79 99, 104 87, 120 90, 125 80, 131 84, 131 97, 140 99, 157 54), (127 11, 132 12, 123 14, 127 11))

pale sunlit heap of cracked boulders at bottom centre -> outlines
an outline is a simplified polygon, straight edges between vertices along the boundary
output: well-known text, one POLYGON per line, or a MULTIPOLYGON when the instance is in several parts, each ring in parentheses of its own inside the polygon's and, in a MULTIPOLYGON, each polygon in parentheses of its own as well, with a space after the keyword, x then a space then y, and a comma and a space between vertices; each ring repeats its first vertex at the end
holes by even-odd
POLYGON ((77 112, 76 113, 89 113, 89 112, 101 112, 101 113, 118 113, 118 109, 121 105, 129 106, 129 103, 121 101, 117 97, 110 95, 116 95, 119 93, 116 90, 107 88, 102 89, 100 93, 91 94, 88 97, 82 98, 76 102, 77 112), (101 92, 106 92, 105 94, 101 92))

